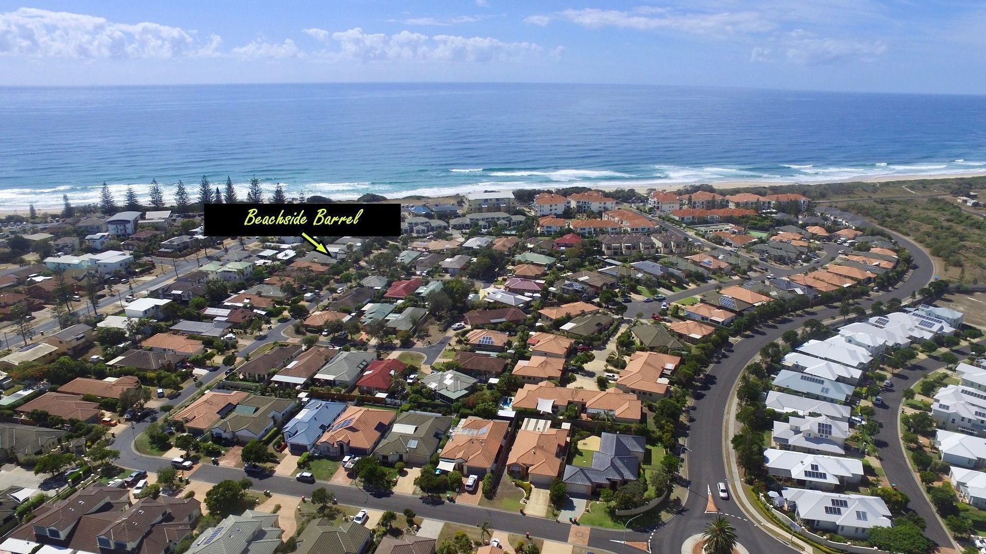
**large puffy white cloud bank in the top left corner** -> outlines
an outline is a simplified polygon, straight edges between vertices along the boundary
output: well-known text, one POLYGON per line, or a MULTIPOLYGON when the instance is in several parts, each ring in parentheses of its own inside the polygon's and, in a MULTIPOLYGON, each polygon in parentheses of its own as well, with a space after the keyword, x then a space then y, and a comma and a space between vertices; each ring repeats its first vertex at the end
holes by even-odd
POLYGON ((26 57, 176 58, 212 56, 222 39, 156 23, 123 24, 104 18, 21 8, 0 14, 0 55, 26 57))

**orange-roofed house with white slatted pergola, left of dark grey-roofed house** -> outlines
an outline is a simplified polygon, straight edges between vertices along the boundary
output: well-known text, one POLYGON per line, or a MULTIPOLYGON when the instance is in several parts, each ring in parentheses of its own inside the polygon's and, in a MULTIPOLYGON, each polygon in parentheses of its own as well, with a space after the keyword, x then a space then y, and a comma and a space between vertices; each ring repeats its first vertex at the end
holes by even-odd
POLYGON ((546 419, 526 419, 507 454, 507 472, 534 485, 550 486, 568 456, 568 429, 551 429, 546 419))

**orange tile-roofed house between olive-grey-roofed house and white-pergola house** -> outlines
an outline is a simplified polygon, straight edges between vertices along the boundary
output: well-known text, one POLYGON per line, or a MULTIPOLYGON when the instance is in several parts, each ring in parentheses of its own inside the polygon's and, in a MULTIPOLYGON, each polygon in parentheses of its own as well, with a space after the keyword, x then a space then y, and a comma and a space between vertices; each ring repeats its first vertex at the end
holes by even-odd
POLYGON ((461 420, 439 454, 438 468, 444 471, 458 469, 462 475, 478 477, 495 471, 500 450, 507 446, 509 429, 510 424, 506 421, 473 416, 461 420))

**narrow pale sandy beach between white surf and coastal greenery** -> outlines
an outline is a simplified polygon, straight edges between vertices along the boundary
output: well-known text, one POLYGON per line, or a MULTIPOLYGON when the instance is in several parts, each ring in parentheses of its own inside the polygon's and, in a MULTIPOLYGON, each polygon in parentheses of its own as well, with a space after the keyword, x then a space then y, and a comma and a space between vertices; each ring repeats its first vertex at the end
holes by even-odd
MULTIPOLYGON (((570 181, 558 181, 551 183, 544 183, 541 187, 550 188, 566 188, 570 186, 589 186, 592 188, 597 188, 599 190, 613 190, 616 188, 632 189, 636 190, 642 194, 647 193, 648 190, 677 190, 681 187, 688 186, 689 184, 700 184, 707 183, 711 184, 714 188, 719 190, 733 189, 733 188, 754 188, 762 186, 815 186, 822 184, 830 184, 836 182, 892 182, 892 181, 907 181, 907 180, 935 180, 935 179, 951 179, 951 178, 964 178, 964 177, 981 177, 986 176, 986 170, 981 172, 970 172, 970 173, 940 173, 940 174, 919 174, 919 175, 880 175, 866 178, 853 178, 853 179, 837 179, 837 180, 826 180, 826 181, 798 181, 798 180, 788 180, 788 181, 763 181, 763 180, 722 180, 722 181, 704 181, 695 180, 690 182, 669 182, 667 184, 656 184, 649 183, 647 185, 627 185, 626 183, 619 182, 599 182, 594 180, 570 180, 570 181)), ((530 186, 528 188, 534 188, 535 186, 530 186)), ((289 191, 290 192, 290 191, 289 191)), ((437 202, 440 204, 446 203, 456 203, 461 194, 448 194, 444 196, 420 196, 415 194, 407 194, 404 196, 394 196, 387 198, 386 202, 400 202, 400 203, 418 203, 422 200, 428 202, 437 202)), ((342 200, 351 201, 351 200, 342 200)), ((37 208, 38 215, 50 214, 51 216, 58 217, 61 215, 60 208, 37 208)), ((27 216, 27 209, 19 210, 4 210, 0 209, 0 217, 8 215, 19 215, 27 216)))

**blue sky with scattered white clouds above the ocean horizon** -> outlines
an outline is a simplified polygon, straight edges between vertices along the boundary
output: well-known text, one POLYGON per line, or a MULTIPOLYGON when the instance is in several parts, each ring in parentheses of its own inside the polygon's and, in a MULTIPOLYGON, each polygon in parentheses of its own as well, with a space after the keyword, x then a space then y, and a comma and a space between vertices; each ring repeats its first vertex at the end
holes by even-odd
POLYGON ((965 0, 0 0, 0 86, 549 82, 986 94, 965 0))

